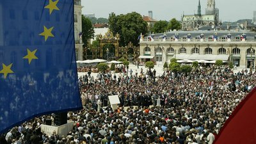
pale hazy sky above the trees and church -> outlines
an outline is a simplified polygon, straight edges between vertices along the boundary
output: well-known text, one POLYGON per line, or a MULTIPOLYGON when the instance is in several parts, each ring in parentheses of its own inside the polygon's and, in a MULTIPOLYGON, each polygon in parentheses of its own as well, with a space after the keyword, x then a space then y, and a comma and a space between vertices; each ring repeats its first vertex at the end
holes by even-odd
MULTIPOLYGON (((83 14, 95 13, 95 17, 108 19, 109 13, 117 15, 137 12, 148 15, 152 10, 156 20, 181 19, 182 13, 191 15, 197 13, 198 0, 81 0, 83 14)), ((201 13, 205 13, 207 0, 200 0, 201 13)), ((216 8, 220 10, 222 22, 234 22, 239 19, 252 19, 256 11, 256 0, 215 0, 216 8)))

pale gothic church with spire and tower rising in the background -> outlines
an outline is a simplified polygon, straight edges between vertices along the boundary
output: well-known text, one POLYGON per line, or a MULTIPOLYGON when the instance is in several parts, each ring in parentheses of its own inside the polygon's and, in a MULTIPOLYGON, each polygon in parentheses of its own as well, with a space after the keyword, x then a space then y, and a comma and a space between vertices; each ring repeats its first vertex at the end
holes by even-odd
POLYGON ((198 10, 194 15, 182 15, 182 30, 193 31, 204 26, 219 26, 219 9, 215 8, 215 0, 207 0, 207 8, 205 15, 201 13, 200 0, 198 2, 198 10))

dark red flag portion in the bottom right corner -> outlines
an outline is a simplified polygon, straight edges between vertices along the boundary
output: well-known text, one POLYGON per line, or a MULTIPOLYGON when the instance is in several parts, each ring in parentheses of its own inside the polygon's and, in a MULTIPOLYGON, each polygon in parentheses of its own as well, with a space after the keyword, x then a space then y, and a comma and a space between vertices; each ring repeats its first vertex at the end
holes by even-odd
POLYGON ((240 102, 214 141, 214 144, 228 143, 256 143, 256 88, 240 102))

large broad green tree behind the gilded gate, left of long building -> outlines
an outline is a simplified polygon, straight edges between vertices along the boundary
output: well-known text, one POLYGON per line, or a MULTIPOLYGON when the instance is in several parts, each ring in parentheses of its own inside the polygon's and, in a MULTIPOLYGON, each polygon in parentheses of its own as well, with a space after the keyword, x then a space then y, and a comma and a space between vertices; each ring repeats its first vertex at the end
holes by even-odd
POLYGON ((147 33, 147 22, 141 15, 136 12, 127 13, 126 15, 109 14, 109 29, 113 35, 120 34, 120 46, 125 46, 132 42, 138 46, 138 36, 147 33))

